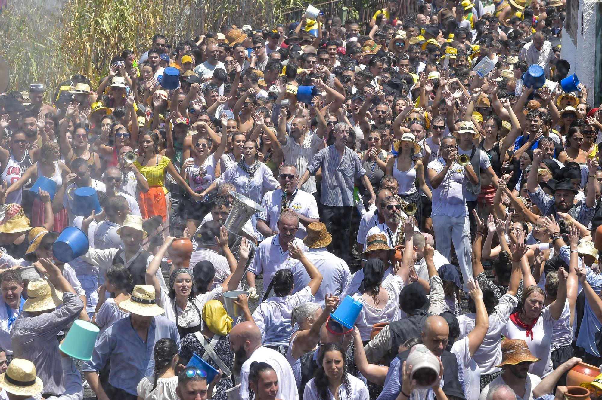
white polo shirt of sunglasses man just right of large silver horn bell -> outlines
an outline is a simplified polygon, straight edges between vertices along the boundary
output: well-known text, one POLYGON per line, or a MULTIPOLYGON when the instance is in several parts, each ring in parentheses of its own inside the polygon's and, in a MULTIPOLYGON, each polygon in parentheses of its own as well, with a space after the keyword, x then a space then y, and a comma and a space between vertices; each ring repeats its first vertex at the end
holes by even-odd
MULTIPOLYGON (((271 190, 265 193, 261 206, 265 208, 265 213, 259 211, 257 218, 267 222, 272 231, 278 231, 278 218, 280 217, 280 208, 282 205, 282 189, 271 190)), ((297 214, 306 218, 320 219, 318 214, 318 204, 313 195, 310 195, 303 190, 297 189, 293 198, 287 203, 288 208, 292 208, 297 214)), ((299 221, 299 230, 296 237, 303 239, 307 235, 305 225, 299 221)))

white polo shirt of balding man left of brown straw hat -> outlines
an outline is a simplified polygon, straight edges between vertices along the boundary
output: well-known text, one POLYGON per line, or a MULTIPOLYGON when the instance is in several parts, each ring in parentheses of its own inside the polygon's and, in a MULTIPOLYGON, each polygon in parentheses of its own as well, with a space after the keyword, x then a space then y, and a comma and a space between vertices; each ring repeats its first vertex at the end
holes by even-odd
MULTIPOLYGON (((265 238, 259 243, 259 246, 257 246, 257 249, 255 250, 253 261, 251 261, 251 264, 249 265, 249 271, 255 275, 263 273, 264 291, 267 290, 267 286, 272 282, 272 277, 276 271, 281 270, 282 268, 292 269, 291 260, 294 259, 288 254, 288 247, 283 249, 280 246, 279 238, 280 236, 278 234, 265 238)), ((301 247, 303 252, 308 250, 308 247, 303 244, 302 240, 299 240, 298 238, 295 238, 294 240, 297 246, 301 247)))

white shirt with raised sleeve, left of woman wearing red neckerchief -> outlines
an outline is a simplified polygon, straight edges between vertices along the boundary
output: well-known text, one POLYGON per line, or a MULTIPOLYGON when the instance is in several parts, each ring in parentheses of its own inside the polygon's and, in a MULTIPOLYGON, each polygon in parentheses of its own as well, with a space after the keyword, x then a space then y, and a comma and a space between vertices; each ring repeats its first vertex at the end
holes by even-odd
MULTIPOLYGON (((473 359, 479 365, 482 375, 493 374, 501 371, 496 365, 501 363, 500 335, 506 327, 510 318, 510 313, 517 306, 517 298, 511 294, 504 294, 500 297, 498 305, 495 306, 495 312, 489 315, 489 328, 483 343, 473 354, 473 359)), ((476 316, 474 314, 464 314, 458 317, 460 324, 460 338, 464 338, 468 333, 473 332, 476 316)), ((526 340, 524 337, 518 338, 526 340)), ((459 339, 460 339, 459 338, 459 339)), ((458 340, 459 340, 458 339, 458 340)), ((468 400, 468 399, 467 399, 468 400)))

